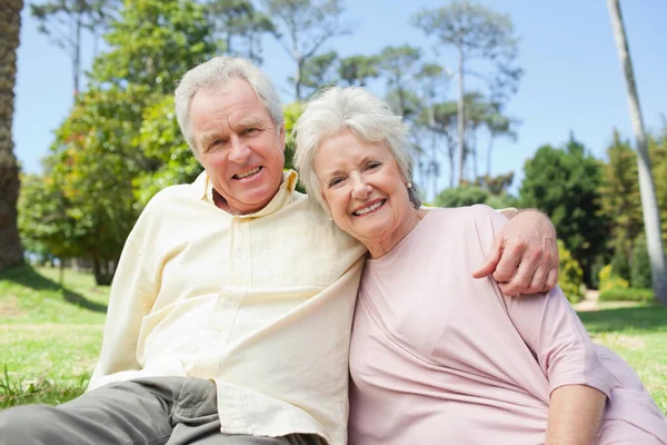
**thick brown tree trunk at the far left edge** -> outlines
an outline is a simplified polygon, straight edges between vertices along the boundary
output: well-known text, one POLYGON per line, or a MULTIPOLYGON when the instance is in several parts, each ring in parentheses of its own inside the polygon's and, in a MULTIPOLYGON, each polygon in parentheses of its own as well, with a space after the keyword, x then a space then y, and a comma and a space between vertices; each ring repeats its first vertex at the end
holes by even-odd
POLYGON ((21 182, 11 134, 21 9, 23 0, 6 0, 0 7, 0 270, 23 260, 17 229, 17 201, 21 182))

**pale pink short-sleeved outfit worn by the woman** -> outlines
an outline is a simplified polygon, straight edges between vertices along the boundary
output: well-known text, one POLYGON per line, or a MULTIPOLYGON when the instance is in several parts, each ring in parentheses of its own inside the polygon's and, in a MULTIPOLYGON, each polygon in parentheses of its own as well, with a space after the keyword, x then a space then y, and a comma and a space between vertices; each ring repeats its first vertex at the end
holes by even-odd
POLYGON ((510 298, 471 277, 505 222, 486 206, 432 209, 388 255, 367 260, 349 444, 540 444, 550 393, 574 384, 611 396, 603 436, 649 432, 667 443, 657 441, 667 441, 667 423, 650 395, 590 342, 559 288, 510 298))

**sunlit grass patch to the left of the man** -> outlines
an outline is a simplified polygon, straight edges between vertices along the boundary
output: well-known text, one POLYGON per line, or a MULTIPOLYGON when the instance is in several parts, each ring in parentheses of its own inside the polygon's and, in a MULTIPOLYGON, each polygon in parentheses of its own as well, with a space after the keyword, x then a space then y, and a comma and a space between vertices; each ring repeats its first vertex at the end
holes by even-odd
POLYGON ((0 275, 0 408, 83 392, 102 340, 109 288, 89 274, 21 267, 0 275))

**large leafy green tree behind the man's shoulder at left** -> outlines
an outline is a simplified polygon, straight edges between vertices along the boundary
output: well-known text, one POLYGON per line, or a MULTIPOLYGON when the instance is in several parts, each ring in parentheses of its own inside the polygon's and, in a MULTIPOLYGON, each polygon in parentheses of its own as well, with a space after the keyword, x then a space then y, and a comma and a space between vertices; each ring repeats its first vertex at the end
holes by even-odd
POLYGON ((91 88, 77 98, 48 159, 98 284, 110 283, 146 201, 201 171, 180 137, 172 93, 215 51, 202 8, 183 0, 136 0, 106 38, 110 51, 96 59, 91 88))

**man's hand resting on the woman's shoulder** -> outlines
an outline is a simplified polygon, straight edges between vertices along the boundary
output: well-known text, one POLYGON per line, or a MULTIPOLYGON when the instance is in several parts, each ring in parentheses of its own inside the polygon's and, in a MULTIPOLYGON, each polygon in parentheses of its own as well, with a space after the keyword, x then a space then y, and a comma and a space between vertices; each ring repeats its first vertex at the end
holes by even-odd
POLYGON ((538 210, 502 211, 509 219, 472 277, 491 275, 507 296, 551 290, 558 284, 556 229, 538 210))

